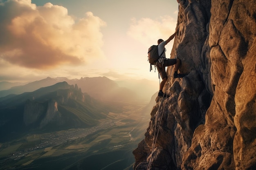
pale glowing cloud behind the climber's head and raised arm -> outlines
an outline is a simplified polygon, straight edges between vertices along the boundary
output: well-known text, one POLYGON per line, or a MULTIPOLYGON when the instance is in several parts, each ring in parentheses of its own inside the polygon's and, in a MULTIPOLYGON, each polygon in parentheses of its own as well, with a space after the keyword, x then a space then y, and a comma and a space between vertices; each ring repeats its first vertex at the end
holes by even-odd
POLYGON ((159 38, 166 40, 175 32, 177 20, 171 16, 161 16, 156 20, 150 18, 131 19, 128 36, 148 46, 149 42, 156 43, 159 38))

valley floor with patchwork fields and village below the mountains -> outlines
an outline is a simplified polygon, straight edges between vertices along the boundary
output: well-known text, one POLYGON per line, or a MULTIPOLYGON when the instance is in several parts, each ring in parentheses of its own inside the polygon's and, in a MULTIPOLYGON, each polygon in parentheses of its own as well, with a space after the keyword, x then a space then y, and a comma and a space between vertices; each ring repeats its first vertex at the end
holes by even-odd
POLYGON ((0 144, 0 170, 132 170, 149 119, 129 105, 93 128, 29 134, 0 144))

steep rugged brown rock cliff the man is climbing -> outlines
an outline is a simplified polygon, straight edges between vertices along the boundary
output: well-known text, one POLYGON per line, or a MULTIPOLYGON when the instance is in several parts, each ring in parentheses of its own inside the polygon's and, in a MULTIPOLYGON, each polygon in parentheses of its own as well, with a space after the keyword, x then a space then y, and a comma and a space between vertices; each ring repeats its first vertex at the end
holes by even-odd
POLYGON ((134 170, 256 169, 256 4, 180 0, 171 58, 134 170))

